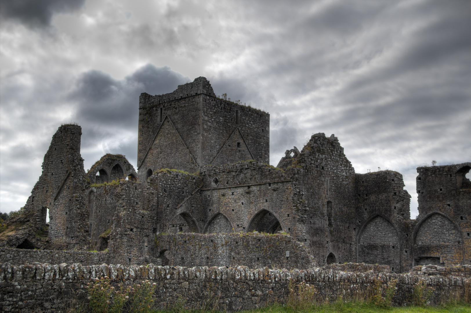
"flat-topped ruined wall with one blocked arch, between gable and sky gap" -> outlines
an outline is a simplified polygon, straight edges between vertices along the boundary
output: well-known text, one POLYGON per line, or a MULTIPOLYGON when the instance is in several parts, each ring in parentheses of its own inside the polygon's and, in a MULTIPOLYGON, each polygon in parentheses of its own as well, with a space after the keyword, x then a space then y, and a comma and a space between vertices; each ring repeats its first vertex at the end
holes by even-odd
POLYGON ((393 271, 413 266, 410 195, 402 175, 385 170, 355 175, 357 262, 391 265, 393 271))

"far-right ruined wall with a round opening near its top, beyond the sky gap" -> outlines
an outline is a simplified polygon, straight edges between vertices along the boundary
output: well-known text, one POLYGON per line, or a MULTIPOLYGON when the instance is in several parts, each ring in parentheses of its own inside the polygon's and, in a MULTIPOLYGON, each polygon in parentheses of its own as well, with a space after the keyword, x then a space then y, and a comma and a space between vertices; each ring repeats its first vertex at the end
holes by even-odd
MULTIPOLYGON (((471 181, 466 178, 470 169, 471 162, 417 168, 419 216, 413 233, 414 244, 417 243, 416 236, 422 227, 429 228, 430 231, 434 229, 431 226, 436 224, 431 223, 433 219, 440 219, 439 224, 447 225, 445 228, 451 233, 443 234, 448 239, 439 246, 432 247, 429 244, 427 245, 429 248, 414 249, 415 264, 421 262, 422 257, 442 257, 444 261, 444 255, 446 255, 445 260, 449 262, 471 264, 471 181), (435 213, 443 216, 436 216, 435 213), (433 219, 427 222, 430 217, 433 219), (450 245, 446 245, 445 242, 449 242, 450 245)), ((425 230, 426 228, 423 229, 423 233, 429 232, 425 230)), ((439 230, 435 227, 433 232, 435 231, 439 230)))

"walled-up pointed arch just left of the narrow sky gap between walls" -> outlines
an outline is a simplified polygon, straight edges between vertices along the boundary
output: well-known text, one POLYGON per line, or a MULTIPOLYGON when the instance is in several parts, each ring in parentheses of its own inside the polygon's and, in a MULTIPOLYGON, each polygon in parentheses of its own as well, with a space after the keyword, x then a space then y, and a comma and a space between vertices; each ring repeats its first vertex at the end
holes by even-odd
POLYGON ((385 215, 375 213, 360 227, 357 234, 358 263, 391 265, 401 272, 401 250, 398 229, 385 215))

